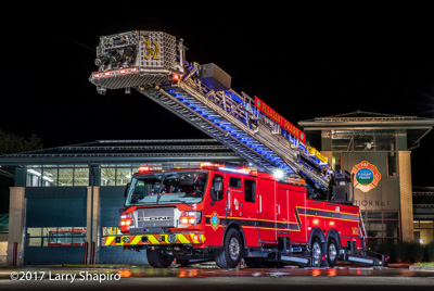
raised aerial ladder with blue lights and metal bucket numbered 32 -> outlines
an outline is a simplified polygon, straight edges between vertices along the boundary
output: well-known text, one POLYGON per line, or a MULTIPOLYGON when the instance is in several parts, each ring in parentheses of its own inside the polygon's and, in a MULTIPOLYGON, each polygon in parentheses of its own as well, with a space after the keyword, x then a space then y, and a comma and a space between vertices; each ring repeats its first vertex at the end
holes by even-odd
MULTIPOLYGON (((98 56, 112 60, 120 59, 127 49, 137 47, 123 64, 104 61, 100 71, 90 76, 90 81, 98 86, 99 92, 105 88, 136 88, 154 102, 215 138, 246 159, 259 170, 273 173, 282 169, 286 176, 306 179, 308 186, 323 193, 330 191, 333 172, 320 161, 309 147, 255 106, 255 101, 244 92, 233 90, 215 91, 201 81, 196 63, 187 63, 182 41, 178 41, 176 65, 163 68, 152 67, 161 61, 157 55, 161 46, 158 38, 166 38, 161 43, 171 41, 164 33, 131 31, 101 38, 98 56), (155 35, 155 36, 154 36, 155 35), (148 38, 146 38, 148 37, 148 38), (143 40, 144 39, 144 40, 143 40), (148 39, 148 40, 146 40, 148 39), (150 39, 155 39, 151 41, 150 39), (145 47, 142 48, 140 46, 145 47), (150 49, 151 45, 154 50, 150 49), (143 52, 144 51, 144 52, 143 52), (139 52, 142 55, 139 55, 139 52), (106 55, 105 55, 106 54, 106 55), (140 60, 135 60, 133 58, 140 60), (158 58, 154 63, 153 58, 158 58), (140 61, 140 62, 139 62, 140 61), (149 61, 149 63, 146 63, 149 61), (123 68, 127 65, 127 68, 123 68), (133 66, 136 65, 136 66, 133 66), (179 79, 174 81, 171 76, 179 79)), ((167 51, 166 49, 165 51, 167 51)), ((167 62, 167 56, 165 56, 167 62)))

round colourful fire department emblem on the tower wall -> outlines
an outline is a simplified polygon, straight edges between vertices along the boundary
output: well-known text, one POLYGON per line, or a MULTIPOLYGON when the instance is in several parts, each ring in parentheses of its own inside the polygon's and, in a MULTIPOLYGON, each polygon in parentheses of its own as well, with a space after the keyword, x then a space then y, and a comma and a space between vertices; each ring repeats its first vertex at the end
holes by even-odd
POLYGON ((375 165, 363 161, 353 167, 352 174, 355 175, 354 187, 363 192, 369 192, 379 185, 381 174, 375 165))

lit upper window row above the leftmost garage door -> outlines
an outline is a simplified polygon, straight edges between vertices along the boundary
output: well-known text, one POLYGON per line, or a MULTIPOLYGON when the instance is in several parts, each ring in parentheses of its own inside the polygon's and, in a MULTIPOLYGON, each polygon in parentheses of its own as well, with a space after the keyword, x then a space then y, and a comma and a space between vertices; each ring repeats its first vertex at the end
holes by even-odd
POLYGON ((27 166, 27 187, 79 187, 89 185, 87 165, 27 166))

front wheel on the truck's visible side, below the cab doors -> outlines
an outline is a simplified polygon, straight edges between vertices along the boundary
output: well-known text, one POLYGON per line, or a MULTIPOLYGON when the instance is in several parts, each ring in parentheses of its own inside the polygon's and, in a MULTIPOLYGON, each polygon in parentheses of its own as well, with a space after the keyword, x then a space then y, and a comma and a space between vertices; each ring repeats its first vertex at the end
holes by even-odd
POLYGON ((240 232, 231 228, 226 233, 222 250, 216 251, 215 261, 220 268, 234 268, 241 261, 242 242, 240 232))

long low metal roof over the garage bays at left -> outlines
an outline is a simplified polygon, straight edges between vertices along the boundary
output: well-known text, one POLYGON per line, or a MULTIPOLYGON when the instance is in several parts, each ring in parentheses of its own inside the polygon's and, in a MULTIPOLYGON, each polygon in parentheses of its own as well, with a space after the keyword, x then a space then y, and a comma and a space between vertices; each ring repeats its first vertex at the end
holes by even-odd
POLYGON ((0 156, 0 165, 189 162, 244 159, 214 139, 178 140, 98 140, 0 156))

